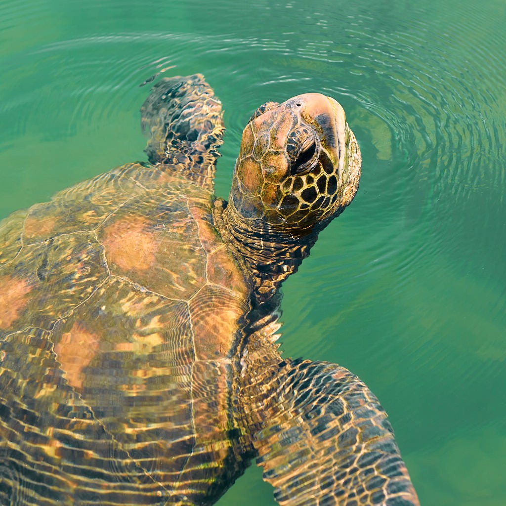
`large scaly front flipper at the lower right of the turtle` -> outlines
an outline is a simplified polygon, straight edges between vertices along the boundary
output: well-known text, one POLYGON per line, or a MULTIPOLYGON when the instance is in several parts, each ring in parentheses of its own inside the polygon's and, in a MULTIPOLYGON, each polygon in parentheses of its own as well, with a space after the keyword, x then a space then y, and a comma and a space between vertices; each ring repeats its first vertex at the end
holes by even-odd
POLYGON ((255 435, 279 504, 419 506, 387 414, 344 367, 283 361, 255 435))

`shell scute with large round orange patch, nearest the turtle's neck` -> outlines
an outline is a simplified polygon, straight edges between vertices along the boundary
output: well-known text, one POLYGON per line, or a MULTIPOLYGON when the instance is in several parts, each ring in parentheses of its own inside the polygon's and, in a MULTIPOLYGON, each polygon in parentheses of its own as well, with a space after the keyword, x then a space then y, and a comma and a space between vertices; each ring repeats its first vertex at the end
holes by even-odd
MULTIPOLYGON (((195 204, 175 191, 146 192, 111 214, 97 231, 111 273, 189 300, 205 284, 206 257, 189 205, 195 204)), ((208 235, 209 247, 215 239, 208 235)))

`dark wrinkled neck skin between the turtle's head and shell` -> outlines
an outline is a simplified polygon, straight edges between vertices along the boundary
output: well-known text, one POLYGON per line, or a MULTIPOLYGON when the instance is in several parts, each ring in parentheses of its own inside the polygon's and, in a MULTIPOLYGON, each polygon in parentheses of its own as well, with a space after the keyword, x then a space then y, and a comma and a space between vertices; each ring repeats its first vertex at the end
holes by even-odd
POLYGON ((318 238, 318 231, 304 237, 281 234, 262 219, 244 219, 232 201, 215 201, 215 226, 249 274, 255 305, 277 293, 281 283, 297 272, 318 238))

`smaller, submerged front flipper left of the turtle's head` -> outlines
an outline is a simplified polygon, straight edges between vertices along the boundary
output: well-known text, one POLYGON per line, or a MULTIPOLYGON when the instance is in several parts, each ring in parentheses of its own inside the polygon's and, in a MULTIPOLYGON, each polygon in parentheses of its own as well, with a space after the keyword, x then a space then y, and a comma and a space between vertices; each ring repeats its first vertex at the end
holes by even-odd
POLYGON ((141 124, 151 136, 145 150, 151 163, 213 187, 225 129, 221 102, 202 74, 156 83, 141 107, 141 124))

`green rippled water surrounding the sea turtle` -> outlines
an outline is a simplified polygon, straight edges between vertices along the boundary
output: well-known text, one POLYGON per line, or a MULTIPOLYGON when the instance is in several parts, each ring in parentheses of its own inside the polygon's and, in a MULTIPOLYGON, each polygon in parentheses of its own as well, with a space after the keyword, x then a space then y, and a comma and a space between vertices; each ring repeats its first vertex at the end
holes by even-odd
MULTIPOLYGON (((0 1, 0 218, 145 159, 139 85, 202 72, 226 196, 258 105, 338 99, 359 193, 284 285, 287 356, 390 414, 422 504, 506 503, 506 3, 0 1)), ((250 468, 221 499, 274 504, 250 468)))

